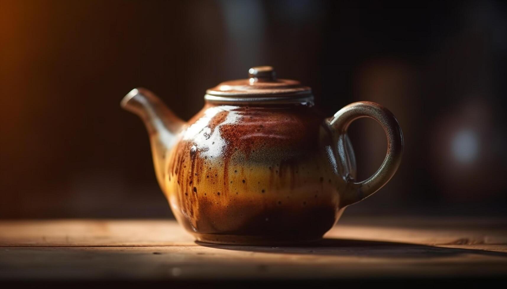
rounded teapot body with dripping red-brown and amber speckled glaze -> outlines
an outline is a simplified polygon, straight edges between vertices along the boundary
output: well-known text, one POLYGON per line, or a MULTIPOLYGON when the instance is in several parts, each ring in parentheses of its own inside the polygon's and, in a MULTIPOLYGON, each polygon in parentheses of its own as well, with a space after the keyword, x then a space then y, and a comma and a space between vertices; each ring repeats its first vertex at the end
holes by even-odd
POLYGON ((332 135, 311 103, 206 104, 167 151, 161 186, 199 241, 318 239, 343 212, 340 192, 355 175, 348 138, 337 147, 332 135))

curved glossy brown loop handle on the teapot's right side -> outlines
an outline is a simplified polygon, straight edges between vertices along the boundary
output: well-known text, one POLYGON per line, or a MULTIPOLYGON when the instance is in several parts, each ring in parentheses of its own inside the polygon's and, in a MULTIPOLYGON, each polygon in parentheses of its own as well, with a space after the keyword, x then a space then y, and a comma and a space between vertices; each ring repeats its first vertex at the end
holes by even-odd
POLYGON ((382 188, 398 169, 403 154, 400 125, 394 115, 380 104, 369 101, 351 103, 335 113, 328 124, 335 136, 341 137, 347 133, 350 123, 361 117, 371 117, 380 123, 387 136, 387 153, 380 168, 370 178, 358 183, 346 180, 347 189, 341 200, 344 206, 360 201, 382 188))

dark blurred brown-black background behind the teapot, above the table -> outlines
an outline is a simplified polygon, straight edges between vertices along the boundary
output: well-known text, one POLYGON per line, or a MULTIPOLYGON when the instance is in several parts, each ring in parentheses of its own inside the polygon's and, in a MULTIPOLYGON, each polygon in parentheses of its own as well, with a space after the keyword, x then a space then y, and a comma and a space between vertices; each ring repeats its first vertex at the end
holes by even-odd
MULTIPOLYGON (((0 0, 0 218, 170 217, 143 86, 184 119, 207 88, 272 65, 328 115, 370 100, 399 119, 400 170, 346 215, 507 214, 503 2, 0 0)), ((380 125, 350 128, 360 179, 380 125)))

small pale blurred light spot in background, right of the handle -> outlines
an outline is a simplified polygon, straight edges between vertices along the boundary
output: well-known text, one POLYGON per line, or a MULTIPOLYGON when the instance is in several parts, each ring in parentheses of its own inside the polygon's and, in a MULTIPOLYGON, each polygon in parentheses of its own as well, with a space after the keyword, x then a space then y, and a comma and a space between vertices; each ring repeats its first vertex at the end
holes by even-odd
POLYGON ((479 154, 479 137, 470 130, 458 132, 451 145, 452 154, 459 162, 473 162, 479 154))

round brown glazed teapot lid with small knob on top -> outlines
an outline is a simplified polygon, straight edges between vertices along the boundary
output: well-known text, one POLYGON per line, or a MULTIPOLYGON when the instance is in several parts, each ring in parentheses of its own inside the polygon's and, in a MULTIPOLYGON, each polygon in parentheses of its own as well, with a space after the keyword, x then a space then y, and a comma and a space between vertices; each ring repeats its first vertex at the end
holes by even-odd
POLYGON ((277 79, 271 66, 248 69, 247 79, 222 82, 206 91, 208 102, 301 103, 313 102, 311 88, 299 81, 277 79))

